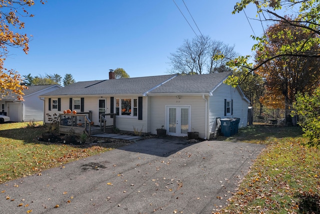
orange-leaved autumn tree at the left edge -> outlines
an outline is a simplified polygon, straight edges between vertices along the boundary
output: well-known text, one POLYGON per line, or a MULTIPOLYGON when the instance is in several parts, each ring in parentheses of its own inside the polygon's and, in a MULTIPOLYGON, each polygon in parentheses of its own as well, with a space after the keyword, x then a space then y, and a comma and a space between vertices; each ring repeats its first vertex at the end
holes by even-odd
MULTIPOLYGON (((43 0, 40 0, 44 4, 43 0)), ((26 8, 34 5, 33 0, 0 0, 0 99, 4 96, 15 94, 18 100, 23 99, 21 76, 17 71, 4 68, 4 60, 8 55, 8 48, 21 48, 27 54, 29 50, 29 37, 20 33, 24 23, 20 17, 33 17, 26 8)))

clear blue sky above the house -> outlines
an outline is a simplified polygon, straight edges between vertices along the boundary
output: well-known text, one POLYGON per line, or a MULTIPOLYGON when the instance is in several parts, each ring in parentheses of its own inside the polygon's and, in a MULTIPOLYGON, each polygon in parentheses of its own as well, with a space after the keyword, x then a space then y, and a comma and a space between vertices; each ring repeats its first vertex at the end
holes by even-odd
MULTIPOLYGON (((196 34, 182 0, 174 0, 196 34)), ((72 74, 76 82, 108 79, 109 69, 130 77, 165 75, 170 53, 195 37, 172 0, 48 0, 28 8, 23 33, 32 35, 29 53, 10 49, 4 66, 21 75, 72 74)), ((202 35, 251 55, 254 41, 243 12, 232 15, 237 1, 184 0, 202 35)), ((255 18, 253 7, 245 9, 255 18)), ((262 28, 250 21, 256 36, 262 28)))

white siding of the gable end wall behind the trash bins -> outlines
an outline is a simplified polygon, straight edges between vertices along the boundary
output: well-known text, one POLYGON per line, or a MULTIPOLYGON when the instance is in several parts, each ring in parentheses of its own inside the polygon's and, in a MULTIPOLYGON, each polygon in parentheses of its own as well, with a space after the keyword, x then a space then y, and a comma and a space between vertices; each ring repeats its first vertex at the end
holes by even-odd
POLYGON ((209 97, 209 133, 214 133, 216 118, 240 118, 239 127, 247 125, 248 103, 237 88, 221 84, 209 97), (224 99, 233 100, 233 114, 224 116, 224 99))

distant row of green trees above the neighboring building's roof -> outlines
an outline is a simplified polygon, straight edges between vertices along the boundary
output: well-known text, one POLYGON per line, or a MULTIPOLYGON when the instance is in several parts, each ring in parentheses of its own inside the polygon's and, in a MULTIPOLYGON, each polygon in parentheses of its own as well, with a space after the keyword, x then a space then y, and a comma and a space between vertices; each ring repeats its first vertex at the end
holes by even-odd
POLYGON ((61 81, 63 83, 63 86, 70 85, 72 83, 75 83, 75 80, 73 79, 71 74, 65 74, 63 79, 58 74, 46 74, 45 76, 39 75, 32 77, 31 74, 23 75, 23 82, 26 86, 32 86, 32 85, 51 85, 51 84, 58 84, 61 85, 61 81))

